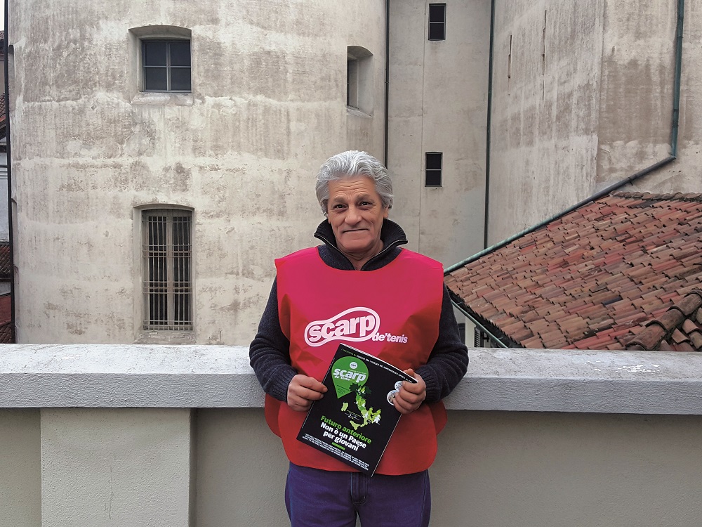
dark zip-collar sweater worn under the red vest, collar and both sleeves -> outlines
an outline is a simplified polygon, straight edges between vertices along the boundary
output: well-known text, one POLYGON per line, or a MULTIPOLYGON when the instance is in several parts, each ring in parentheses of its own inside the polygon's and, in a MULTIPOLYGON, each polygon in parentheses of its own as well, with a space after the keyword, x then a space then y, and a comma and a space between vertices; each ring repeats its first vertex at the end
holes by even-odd
MULTIPOLYGON (((317 246, 317 250, 326 265, 343 271, 355 271, 351 261, 337 249, 336 238, 328 221, 325 220, 319 224, 314 237, 324 242, 324 245, 317 246)), ((367 261, 361 271, 374 271, 388 265, 402 251, 399 245, 407 243, 404 230, 388 219, 383 221, 380 239, 383 240, 383 250, 367 261)), ((290 341, 280 329, 278 290, 275 280, 268 297, 268 304, 258 325, 258 334, 251 342, 249 357, 251 367, 256 372, 258 382, 263 386, 264 391, 279 401, 286 401, 288 384, 297 372, 290 365, 290 341)), ((439 318, 439 338, 428 362, 416 370, 427 385, 426 401, 432 403, 449 395, 461 381, 467 368, 468 349, 459 337, 449 292, 444 286, 444 299, 441 318, 439 318)))

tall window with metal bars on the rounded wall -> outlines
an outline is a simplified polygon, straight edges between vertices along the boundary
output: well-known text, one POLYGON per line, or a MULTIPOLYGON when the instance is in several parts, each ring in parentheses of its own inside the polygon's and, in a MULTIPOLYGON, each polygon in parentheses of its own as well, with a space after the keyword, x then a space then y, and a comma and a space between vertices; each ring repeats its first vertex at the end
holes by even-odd
POLYGON ((192 330, 192 212, 142 212, 144 329, 192 330))

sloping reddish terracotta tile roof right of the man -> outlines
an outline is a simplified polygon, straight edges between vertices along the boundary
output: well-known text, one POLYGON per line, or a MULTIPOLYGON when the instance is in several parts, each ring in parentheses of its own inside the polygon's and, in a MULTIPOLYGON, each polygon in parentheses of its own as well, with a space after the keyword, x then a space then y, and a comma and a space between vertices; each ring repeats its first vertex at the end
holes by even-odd
POLYGON ((602 197, 446 285, 510 346, 702 351, 702 195, 602 197))

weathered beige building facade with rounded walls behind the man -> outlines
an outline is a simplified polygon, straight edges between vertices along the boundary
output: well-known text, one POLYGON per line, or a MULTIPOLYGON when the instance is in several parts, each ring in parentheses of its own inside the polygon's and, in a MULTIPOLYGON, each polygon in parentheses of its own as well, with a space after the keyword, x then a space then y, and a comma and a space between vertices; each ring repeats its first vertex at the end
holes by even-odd
MULTIPOLYGON (((486 190, 493 243, 670 152, 675 2, 496 0, 488 183, 491 2, 447 0, 442 41, 429 4, 388 4, 390 217, 409 248, 449 266, 483 248, 486 190)), ((679 157, 640 190, 700 190, 702 8, 686 11, 679 157)), ((385 2, 11 1, 8 20, 18 341, 249 341, 273 259, 316 243, 319 164, 383 158, 385 2), (192 93, 143 93, 140 39, 173 34, 192 93), (159 206, 192 210, 190 333, 141 329, 140 215, 159 206)))

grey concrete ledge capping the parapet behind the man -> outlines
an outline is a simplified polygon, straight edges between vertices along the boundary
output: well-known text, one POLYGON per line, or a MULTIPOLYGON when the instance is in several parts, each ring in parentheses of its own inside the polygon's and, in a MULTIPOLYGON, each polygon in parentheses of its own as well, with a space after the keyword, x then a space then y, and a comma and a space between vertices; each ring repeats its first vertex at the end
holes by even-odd
MULTIPOLYGON (((0 408, 260 408, 244 346, 6 344, 0 408)), ((702 354, 472 349, 450 410, 702 415, 702 354)))

